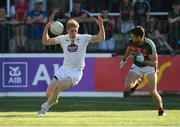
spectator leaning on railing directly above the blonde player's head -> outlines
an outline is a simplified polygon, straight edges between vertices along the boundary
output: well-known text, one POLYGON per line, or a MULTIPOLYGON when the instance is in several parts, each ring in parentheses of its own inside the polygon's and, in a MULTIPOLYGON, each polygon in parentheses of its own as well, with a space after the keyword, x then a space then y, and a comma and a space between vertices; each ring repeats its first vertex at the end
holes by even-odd
POLYGON ((79 22, 79 33, 85 33, 84 27, 86 18, 88 17, 88 13, 86 11, 81 10, 81 3, 79 0, 75 0, 73 3, 73 10, 70 12, 69 16, 79 22))

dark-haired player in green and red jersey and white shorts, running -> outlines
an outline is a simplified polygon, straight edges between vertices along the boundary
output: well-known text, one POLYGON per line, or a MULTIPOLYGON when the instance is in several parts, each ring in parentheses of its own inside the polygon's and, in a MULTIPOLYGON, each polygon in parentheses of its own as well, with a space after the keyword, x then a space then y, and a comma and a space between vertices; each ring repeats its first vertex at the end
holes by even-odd
POLYGON ((133 56, 133 64, 125 79, 124 94, 133 93, 138 86, 139 78, 146 75, 150 94, 159 110, 158 115, 164 116, 162 98, 157 92, 158 55, 156 46, 151 39, 145 37, 145 30, 142 26, 137 26, 131 30, 128 47, 120 62, 120 68, 123 68, 129 56, 133 56))

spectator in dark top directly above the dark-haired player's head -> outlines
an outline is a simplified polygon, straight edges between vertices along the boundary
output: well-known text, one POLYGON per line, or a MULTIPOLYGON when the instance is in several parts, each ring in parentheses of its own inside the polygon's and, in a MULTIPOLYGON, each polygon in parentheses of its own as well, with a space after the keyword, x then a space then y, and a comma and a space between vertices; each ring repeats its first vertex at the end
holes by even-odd
POLYGON ((150 5, 147 0, 137 0, 134 4, 134 20, 136 25, 146 28, 150 16, 150 5))

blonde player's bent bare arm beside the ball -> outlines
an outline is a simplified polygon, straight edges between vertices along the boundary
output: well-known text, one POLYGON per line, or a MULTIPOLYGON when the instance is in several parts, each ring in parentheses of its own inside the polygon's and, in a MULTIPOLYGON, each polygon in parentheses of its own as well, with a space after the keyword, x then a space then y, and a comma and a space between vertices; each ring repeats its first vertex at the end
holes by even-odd
POLYGON ((52 23, 53 23, 53 21, 49 21, 44 28, 43 37, 42 37, 43 45, 54 45, 55 44, 54 38, 50 38, 48 35, 48 30, 52 23))

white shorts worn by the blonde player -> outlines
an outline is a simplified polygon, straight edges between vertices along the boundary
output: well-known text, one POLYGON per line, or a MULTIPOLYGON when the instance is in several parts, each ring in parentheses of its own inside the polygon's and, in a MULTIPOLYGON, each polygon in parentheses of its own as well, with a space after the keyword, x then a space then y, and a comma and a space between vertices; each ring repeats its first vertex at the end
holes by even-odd
POLYGON ((63 79, 70 77, 73 82, 73 86, 78 84, 78 82, 82 78, 83 71, 75 71, 71 70, 69 68, 61 66, 55 73, 55 77, 58 78, 59 81, 62 81, 63 79))

